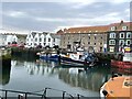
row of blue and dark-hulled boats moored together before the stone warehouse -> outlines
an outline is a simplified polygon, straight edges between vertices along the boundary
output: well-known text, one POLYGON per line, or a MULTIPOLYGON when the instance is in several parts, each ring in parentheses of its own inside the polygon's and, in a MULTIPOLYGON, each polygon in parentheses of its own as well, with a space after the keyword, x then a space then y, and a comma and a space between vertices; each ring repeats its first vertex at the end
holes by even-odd
POLYGON ((66 54, 58 52, 41 52, 37 53, 37 55, 42 59, 56 61, 63 65, 95 66, 95 64, 98 62, 95 53, 88 53, 85 51, 67 52, 66 54))

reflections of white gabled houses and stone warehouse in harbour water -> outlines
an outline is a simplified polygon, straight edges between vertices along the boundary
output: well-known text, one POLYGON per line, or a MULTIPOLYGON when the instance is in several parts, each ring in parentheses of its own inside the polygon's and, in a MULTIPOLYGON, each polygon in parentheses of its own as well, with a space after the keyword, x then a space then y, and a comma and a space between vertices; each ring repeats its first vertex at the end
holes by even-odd
POLYGON ((25 68, 30 75, 58 75, 58 78, 64 82, 73 86, 80 87, 84 89, 90 89, 94 91, 99 91, 103 82, 106 82, 110 77, 110 69, 106 67, 90 68, 85 70, 85 68, 56 68, 57 64, 54 62, 36 62, 25 63, 25 68))

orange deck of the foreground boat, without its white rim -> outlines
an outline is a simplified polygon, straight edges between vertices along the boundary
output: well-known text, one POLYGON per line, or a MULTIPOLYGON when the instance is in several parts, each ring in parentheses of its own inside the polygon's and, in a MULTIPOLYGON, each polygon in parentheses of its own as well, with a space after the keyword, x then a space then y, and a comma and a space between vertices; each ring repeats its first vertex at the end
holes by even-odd
MULTIPOLYGON (((107 97, 132 99, 132 77, 114 77, 105 84, 107 97)), ((109 99, 109 98, 108 98, 109 99)))

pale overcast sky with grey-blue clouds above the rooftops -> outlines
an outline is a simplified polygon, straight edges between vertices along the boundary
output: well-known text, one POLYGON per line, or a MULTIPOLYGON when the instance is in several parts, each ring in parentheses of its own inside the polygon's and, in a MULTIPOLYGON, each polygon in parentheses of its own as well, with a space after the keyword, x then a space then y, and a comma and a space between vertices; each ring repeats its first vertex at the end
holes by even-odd
POLYGON ((56 32, 63 28, 130 21, 131 0, 59 0, 3 2, 2 30, 56 32))

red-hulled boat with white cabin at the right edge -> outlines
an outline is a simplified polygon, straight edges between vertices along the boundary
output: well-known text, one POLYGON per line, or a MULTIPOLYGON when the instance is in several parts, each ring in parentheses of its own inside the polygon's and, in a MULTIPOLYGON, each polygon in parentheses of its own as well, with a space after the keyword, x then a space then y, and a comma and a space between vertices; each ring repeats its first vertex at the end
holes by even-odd
POLYGON ((123 61, 111 59, 111 66, 122 69, 132 70, 132 51, 130 47, 124 47, 123 61))

